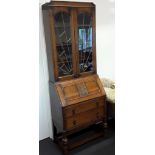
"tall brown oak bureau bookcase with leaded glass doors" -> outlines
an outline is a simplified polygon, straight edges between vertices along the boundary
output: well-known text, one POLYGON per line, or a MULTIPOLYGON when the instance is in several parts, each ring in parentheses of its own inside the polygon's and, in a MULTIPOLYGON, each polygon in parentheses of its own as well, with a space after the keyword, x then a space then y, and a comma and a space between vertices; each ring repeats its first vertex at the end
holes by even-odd
MULTIPOLYGON (((96 71, 95 5, 51 1, 42 6, 54 138, 106 126, 105 91, 96 71)), ((82 144, 82 143, 81 143, 82 144)))

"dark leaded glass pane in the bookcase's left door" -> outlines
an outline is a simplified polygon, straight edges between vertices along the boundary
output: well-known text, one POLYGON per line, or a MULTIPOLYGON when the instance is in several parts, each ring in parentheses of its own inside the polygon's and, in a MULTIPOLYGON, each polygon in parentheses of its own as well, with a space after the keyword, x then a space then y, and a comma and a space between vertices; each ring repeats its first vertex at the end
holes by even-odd
POLYGON ((73 74, 70 15, 59 12, 55 15, 56 49, 59 76, 73 74))

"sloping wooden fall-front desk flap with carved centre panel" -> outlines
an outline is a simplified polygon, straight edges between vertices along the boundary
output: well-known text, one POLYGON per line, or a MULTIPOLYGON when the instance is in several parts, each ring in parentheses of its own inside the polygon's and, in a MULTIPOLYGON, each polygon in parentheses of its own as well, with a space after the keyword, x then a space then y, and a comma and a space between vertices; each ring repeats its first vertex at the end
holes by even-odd
POLYGON ((57 82, 55 86, 63 107, 105 96, 98 75, 57 82))

